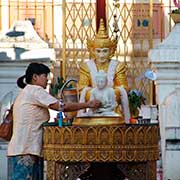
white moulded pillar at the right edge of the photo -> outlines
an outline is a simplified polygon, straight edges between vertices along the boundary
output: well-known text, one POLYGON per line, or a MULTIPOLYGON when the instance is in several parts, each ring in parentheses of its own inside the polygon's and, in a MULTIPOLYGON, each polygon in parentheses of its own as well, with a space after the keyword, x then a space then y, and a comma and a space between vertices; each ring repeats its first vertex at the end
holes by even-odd
POLYGON ((169 36, 150 50, 149 59, 157 73, 155 86, 159 104, 163 179, 179 179, 180 24, 176 24, 169 36))

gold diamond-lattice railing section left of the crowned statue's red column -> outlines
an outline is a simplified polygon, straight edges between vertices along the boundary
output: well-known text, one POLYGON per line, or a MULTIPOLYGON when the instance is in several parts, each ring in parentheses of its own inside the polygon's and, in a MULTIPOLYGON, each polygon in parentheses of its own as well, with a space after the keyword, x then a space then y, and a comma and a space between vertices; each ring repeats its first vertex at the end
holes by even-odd
POLYGON ((81 2, 66 2, 64 4, 63 21, 63 69, 62 75, 75 76, 78 78, 78 66, 87 59, 86 49, 87 37, 93 37, 96 24, 96 6, 95 0, 86 0, 81 2))

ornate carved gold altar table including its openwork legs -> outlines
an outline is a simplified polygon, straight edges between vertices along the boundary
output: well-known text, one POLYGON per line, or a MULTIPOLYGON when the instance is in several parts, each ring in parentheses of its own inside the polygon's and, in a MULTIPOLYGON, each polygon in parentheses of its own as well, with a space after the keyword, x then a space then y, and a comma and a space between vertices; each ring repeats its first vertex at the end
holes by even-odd
POLYGON ((91 162, 117 162, 128 179, 156 180, 158 131, 157 124, 45 126, 47 179, 75 180, 91 162))

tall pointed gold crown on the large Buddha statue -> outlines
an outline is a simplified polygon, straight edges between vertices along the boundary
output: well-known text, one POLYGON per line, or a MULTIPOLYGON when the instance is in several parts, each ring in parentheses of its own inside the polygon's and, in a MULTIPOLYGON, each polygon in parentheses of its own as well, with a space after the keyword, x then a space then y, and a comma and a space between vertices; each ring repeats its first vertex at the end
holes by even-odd
POLYGON ((108 33, 104 27, 103 19, 100 19, 100 25, 98 33, 94 40, 87 39, 87 48, 93 58, 95 58, 94 49, 95 48, 109 48, 110 49, 110 58, 114 56, 114 53, 117 48, 117 40, 111 40, 108 36, 108 33))

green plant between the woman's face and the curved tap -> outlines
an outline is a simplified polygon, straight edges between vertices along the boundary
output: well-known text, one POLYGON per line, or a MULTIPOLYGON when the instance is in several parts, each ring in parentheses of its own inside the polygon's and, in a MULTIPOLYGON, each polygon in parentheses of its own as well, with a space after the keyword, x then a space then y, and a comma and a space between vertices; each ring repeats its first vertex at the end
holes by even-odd
MULTIPOLYGON (((50 93, 53 96, 57 96, 59 90, 62 88, 62 86, 64 85, 65 82, 66 81, 64 80, 63 77, 57 77, 55 79, 55 81, 50 85, 50 93)), ((66 88, 72 88, 72 87, 73 87, 72 84, 69 84, 69 85, 66 86, 66 88)))

